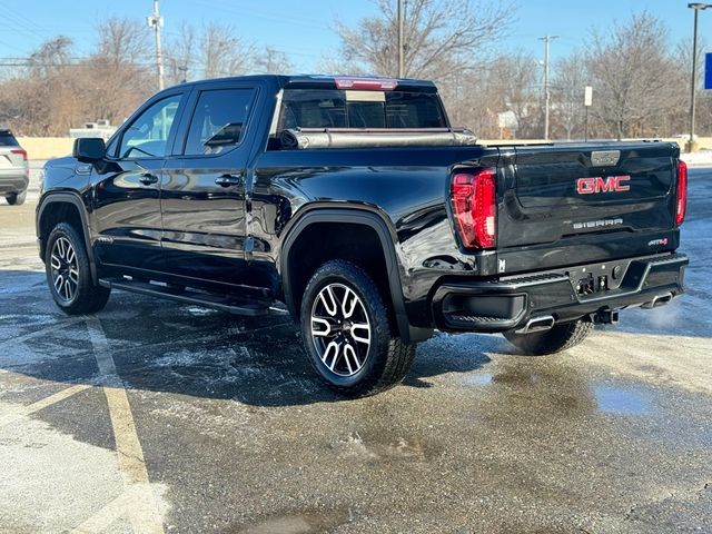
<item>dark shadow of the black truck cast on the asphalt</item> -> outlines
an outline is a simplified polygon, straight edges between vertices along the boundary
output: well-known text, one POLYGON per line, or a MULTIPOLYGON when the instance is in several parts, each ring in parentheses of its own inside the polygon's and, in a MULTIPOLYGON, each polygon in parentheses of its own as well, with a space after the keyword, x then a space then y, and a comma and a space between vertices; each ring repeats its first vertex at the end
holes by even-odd
MULTIPOLYGON (((345 399, 318 380, 298 327, 285 313, 240 318, 115 293, 96 316, 67 317, 41 287, 41 274, 2 271, 0 276, 13 281, 6 290, 0 288, 4 304, 0 369, 41 380, 116 385, 117 377, 101 376, 97 365, 98 354, 108 352, 118 378, 129 389, 254 406, 345 399)), ((465 337, 438 335, 422 344, 405 386, 431 387, 429 378, 438 375, 478 369, 490 362, 485 350, 506 347, 498 337, 465 337)))

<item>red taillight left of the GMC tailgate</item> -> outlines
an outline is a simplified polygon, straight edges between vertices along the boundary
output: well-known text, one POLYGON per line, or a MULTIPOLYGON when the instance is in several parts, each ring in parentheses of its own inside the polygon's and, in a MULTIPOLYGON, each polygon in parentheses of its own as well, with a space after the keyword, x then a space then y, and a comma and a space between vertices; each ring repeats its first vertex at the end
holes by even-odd
POLYGON ((453 175, 453 212, 467 248, 494 248, 497 227, 497 171, 479 169, 453 175))

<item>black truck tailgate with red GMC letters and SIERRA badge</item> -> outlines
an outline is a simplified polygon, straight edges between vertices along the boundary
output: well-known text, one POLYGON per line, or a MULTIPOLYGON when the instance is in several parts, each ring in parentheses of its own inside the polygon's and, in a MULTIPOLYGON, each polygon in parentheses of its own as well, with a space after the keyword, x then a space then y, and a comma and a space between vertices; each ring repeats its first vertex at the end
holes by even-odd
POLYGON ((649 236, 674 228, 678 156, 662 142, 516 147, 498 248, 555 245, 562 260, 563 249, 582 243, 600 247, 602 258, 659 251, 649 236))

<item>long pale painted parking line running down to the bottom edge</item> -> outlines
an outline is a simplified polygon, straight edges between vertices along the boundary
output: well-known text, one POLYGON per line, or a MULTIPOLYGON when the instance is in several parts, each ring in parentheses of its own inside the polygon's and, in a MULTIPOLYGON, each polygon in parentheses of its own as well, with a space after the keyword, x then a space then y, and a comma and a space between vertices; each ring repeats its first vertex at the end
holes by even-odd
POLYGON ((161 513, 148 478, 131 406, 118 377, 111 348, 99 319, 91 317, 86 320, 100 378, 105 384, 116 384, 106 385, 103 393, 107 397, 125 491, 73 532, 101 532, 116 520, 128 517, 134 532, 164 533, 161 513))

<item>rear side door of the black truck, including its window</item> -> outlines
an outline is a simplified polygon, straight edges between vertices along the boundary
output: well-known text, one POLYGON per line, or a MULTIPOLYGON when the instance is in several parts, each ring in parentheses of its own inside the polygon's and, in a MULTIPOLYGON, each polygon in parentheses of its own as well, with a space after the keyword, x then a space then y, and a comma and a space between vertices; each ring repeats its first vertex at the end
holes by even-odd
POLYGON ((168 159, 161 184, 164 250, 174 275, 245 284, 246 131, 256 93, 221 85, 191 98, 182 146, 168 159))

